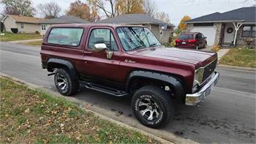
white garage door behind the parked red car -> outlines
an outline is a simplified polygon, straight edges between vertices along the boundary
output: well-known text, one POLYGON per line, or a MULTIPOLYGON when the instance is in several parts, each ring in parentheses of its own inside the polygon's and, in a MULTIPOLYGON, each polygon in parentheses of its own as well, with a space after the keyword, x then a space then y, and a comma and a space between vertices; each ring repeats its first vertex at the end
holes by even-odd
POLYGON ((205 37, 207 37, 207 44, 214 45, 214 39, 216 34, 216 29, 214 28, 214 26, 196 26, 193 27, 191 31, 202 33, 205 37))

